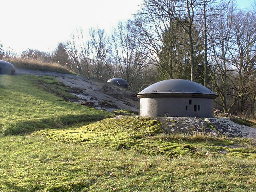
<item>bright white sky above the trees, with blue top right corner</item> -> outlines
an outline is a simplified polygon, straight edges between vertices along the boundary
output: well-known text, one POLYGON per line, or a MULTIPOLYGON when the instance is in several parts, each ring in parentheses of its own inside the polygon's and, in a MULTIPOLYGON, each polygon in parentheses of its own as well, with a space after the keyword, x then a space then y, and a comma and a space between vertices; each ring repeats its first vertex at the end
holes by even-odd
MULTIPOLYGON (((254 0, 236 0, 250 8, 254 0)), ((0 44, 21 53, 29 48, 52 52, 76 29, 111 32, 133 18, 142 0, 1 0, 0 44)))

